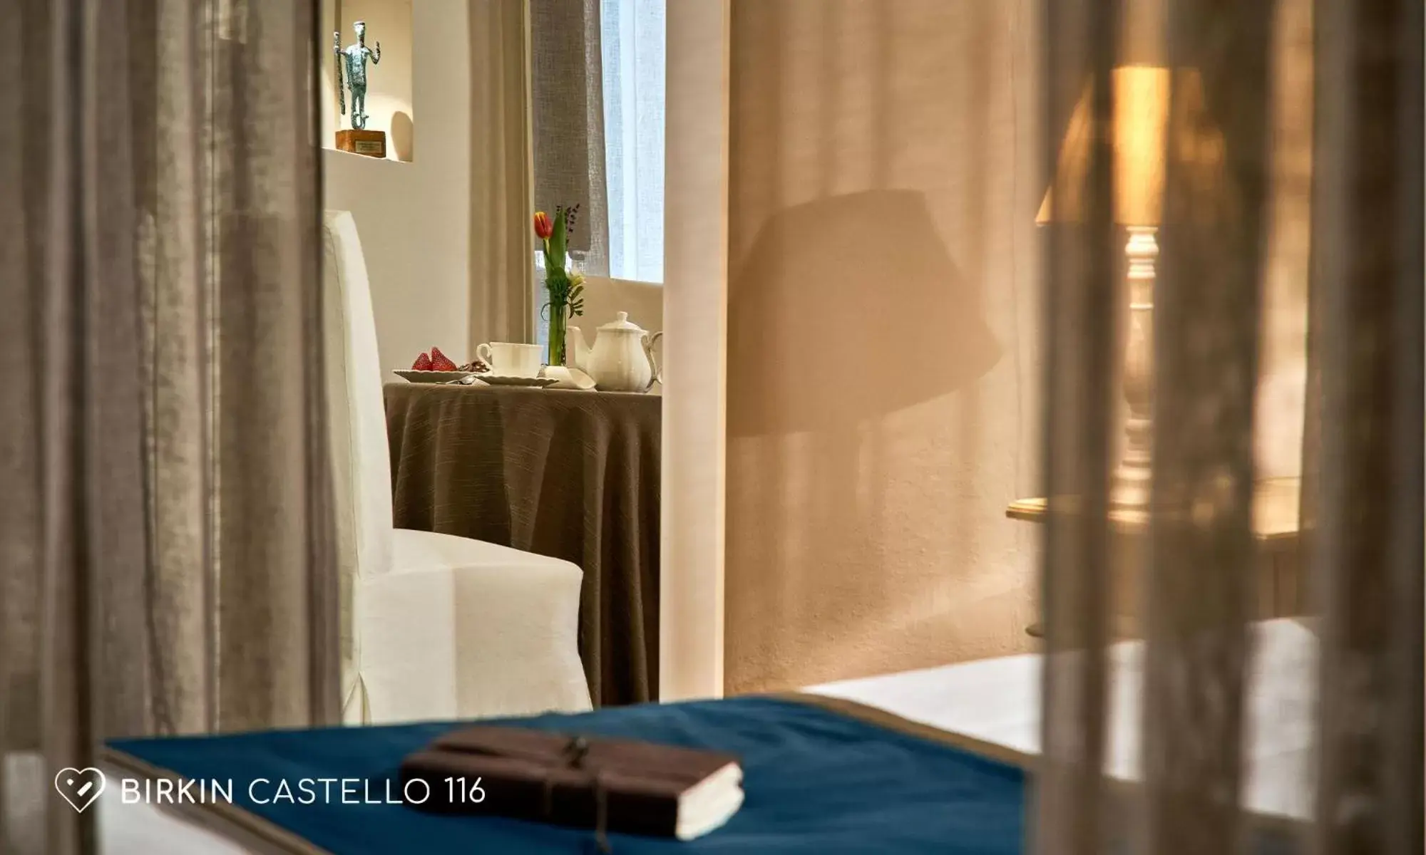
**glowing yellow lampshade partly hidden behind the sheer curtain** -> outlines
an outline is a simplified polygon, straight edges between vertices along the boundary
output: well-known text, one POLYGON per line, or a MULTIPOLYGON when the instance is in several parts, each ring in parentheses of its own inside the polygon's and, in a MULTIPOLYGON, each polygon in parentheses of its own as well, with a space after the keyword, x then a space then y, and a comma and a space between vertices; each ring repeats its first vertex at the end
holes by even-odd
MULTIPOLYGON (((1127 66, 1112 71, 1114 86, 1114 221, 1119 225, 1158 225, 1164 195, 1164 134, 1168 124, 1169 70, 1127 66)), ((1192 81, 1196 84, 1196 78, 1192 81)), ((1089 170, 1094 134, 1091 87, 1085 87, 1055 167, 1055 184, 1035 215, 1037 224, 1051 219, 1078 221, 1084 215, 1084 184, 1089 170), (1052 200, 1054 188, 1064 200, 1052 200)))

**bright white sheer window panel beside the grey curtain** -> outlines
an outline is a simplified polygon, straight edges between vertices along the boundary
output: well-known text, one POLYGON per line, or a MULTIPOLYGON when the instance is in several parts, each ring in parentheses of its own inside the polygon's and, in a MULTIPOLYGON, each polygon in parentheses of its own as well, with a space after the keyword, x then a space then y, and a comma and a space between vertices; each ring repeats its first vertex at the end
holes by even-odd
POLYGON ((663 282, 666 0, 600 0, 609 275, 663 282))

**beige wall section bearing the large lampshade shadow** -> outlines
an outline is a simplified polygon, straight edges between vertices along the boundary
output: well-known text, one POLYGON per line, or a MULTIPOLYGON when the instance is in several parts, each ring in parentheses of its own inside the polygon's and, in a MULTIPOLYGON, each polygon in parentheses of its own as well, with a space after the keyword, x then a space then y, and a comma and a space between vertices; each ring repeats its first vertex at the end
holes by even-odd
POLYGON ((729 691, 1028 647, 1031 7, 733 3, 729 691))

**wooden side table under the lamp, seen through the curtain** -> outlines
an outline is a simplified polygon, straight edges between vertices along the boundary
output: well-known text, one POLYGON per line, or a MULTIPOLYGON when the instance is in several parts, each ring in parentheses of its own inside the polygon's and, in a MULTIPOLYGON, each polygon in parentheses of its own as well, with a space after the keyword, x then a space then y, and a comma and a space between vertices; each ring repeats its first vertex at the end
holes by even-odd
MULTIPOLYGON (((1258 482, 1253 492, 1253 536, 1258 540, 1258 617, 1288 617, 1303 610, 1302 566, 1298 549, 1298 502, 1302 479, 1275 477, 1258 482)), ((1005 507, 1012 520, 1042 523, 1044 499, 1017 499, 1005 507)), ((1141 590, 1138 566, 1129 559, 1137 554, 1141 539, 1148 533, 1148 513, 1115 507, 1109 512, 1114 543, 1109 544, 1114 563, 1115 601, 1137 604, 1141 590)), ((1137 616, 1119 616, 1119 634, 1137 634, 1137 616)), ((1025 628, 1042 637, 1040 623, 1025 628)))

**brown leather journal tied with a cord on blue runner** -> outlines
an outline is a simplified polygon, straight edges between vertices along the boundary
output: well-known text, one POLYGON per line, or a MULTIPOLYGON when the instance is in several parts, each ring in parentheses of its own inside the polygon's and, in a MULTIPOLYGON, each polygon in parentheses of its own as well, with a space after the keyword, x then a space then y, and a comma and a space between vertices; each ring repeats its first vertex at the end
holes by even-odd
POLYGON ((401 777, 429 789, 414 805, 425 811, 680 839, 723 825, 743 802, 732 754, 519 727, 452 731, 406 757, 401 777))

